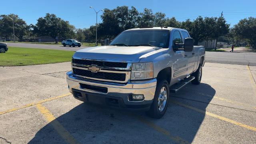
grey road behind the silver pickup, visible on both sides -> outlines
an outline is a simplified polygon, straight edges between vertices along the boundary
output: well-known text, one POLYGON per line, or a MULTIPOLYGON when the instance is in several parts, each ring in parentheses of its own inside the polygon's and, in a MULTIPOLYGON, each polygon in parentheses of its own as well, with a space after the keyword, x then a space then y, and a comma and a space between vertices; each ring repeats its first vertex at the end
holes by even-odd
MULTIPOLYGON (((8 46, 26 47, 26 48, 47 48, 58 50, 77 51, 86 46, 64 47, 62 45, 44 45, 44 44, 25 44, 25 43, 8 43, 8 46)), ((256 52, 238 53, 238 52, 206 52, 206 62, 223 63, 223 64, 241 64, 256 66, 256 52)))

